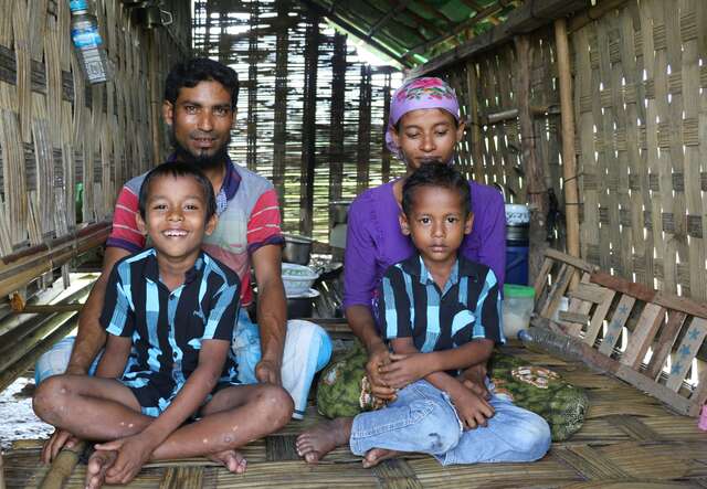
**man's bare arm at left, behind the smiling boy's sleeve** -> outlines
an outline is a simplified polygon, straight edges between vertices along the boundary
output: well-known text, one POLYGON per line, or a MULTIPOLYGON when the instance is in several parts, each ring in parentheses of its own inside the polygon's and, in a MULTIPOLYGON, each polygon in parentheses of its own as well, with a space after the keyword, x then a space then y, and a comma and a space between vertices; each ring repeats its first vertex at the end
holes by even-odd
POLYGON ((103 310, 103 301, 106 295, 106 285, 113 265, 120 258, 129 255, 126 249, 108 246, 103 258, 103 272, 94 284, 78 316, 78 332, 71 359, 66 366, 66 373, 86 374, 94 359, 106 342, 106 331, 101 327, 98 319, 103 310))

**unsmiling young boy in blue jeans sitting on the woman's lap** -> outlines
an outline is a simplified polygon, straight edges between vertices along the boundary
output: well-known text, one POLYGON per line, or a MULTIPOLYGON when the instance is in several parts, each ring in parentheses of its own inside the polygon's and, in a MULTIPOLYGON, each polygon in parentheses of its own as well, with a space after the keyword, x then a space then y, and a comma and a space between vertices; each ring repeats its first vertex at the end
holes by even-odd
POLYGON ((401 451, 430 454, 443 465, 540 458, 550 444, 545 421, 505 397, 485 400, 456 379, 505 341, 494 273, 457 253, 474 222, 468 183, 446 164, 423 164, 403 185, 402 208, 400 226, 416 253, 390 267, 378 288, 380 333, 393 351, 379 370, 397 397, 302 435, 299 455, 316 463, 348 443, 365 467, 401 451), (492 432, 487 423, 503 427, 492 432), (538 428, 518 436, 519 424, 538 428), (485 456, 490 453, 502 456, 485 456))

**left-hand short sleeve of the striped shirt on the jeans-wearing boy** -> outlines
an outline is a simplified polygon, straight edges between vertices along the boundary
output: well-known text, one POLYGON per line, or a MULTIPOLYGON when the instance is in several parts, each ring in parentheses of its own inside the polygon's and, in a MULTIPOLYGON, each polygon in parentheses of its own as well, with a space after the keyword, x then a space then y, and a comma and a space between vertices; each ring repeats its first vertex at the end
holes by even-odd
POLYGON ((403 272, 392 266, 378 286, 379 325, 387 340, 412 337, 414 318, 411 316, 411 298, 408 297, 404 281, 403 272))

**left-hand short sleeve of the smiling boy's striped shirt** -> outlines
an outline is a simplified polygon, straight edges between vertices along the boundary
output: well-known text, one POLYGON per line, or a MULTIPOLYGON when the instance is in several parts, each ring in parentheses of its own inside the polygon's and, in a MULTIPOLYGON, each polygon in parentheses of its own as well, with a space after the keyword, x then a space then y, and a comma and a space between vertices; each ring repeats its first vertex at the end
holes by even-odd
MULTIPOLYGON (((135 311, 124 279, 129 281, 129 264, 118 262, 110 270, 101 313, 101 326, 113 336, 130 337, 135 331, 135 311), (120 272, 124 272, 123 274, 120 272)), ((129 285, 129 284, 128 284, 129 285)))

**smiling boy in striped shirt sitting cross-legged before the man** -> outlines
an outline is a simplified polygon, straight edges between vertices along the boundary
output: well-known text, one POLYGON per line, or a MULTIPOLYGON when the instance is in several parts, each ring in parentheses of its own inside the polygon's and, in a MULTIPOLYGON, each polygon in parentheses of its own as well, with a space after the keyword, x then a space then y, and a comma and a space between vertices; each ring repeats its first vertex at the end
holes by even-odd
POLYGON ((293 402, 272 384, 236 385, 230 346, 239 277, 201 251, 217 222, 211 183, 188 163, 155 168, 140 188, 137 222, 154 247, 113 268, 96 376, 48 379, 34 411, 81 438, 108 442, 88 461, 88 488, 129 482, 150 459, 204 455, 243 472, 234 449, 286 424, 293 402))

